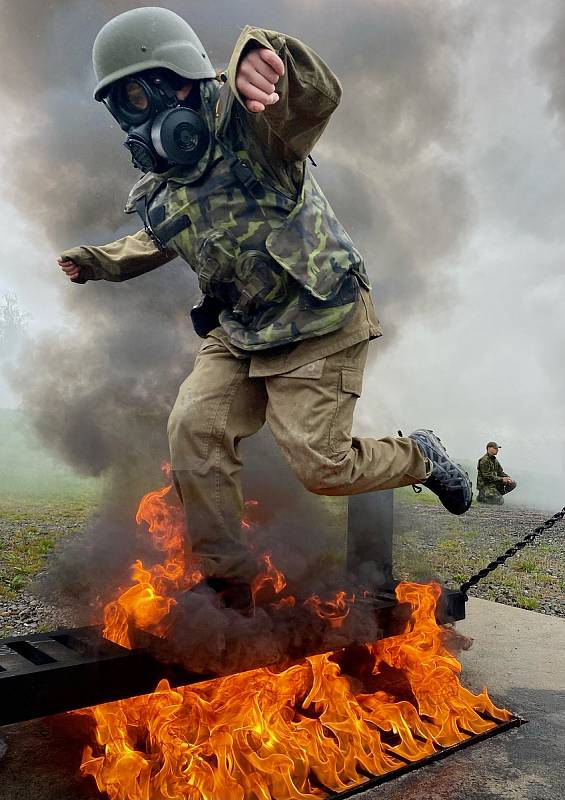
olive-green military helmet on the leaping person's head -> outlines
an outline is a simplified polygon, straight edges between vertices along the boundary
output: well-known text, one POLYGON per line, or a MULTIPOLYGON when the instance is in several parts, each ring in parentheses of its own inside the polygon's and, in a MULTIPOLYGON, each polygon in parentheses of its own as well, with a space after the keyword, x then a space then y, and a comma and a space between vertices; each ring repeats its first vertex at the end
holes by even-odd
POLYGON ((134 8, 100 30, 92 48, 98 84, 94 98, 120 78, 164 67, 189 80, 213 78, 216 71, 188 22, 167 8, 134 8))

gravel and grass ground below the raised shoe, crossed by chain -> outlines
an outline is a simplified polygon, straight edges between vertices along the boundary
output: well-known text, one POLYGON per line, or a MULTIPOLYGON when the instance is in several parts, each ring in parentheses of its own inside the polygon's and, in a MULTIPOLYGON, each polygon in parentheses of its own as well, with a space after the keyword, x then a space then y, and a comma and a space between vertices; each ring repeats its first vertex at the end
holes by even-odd
MULTIPOLYGON (((425 496, 424 496, 425 497, 425 496)), ((553 511, 512 505, 473 505, 454 517, 431 502, 396 504, 397 578, 429 578, 458 587, 501 555, 553 511)), ((470 594, 506 605, 565 617, 565 521, 491 573, 470 594)))

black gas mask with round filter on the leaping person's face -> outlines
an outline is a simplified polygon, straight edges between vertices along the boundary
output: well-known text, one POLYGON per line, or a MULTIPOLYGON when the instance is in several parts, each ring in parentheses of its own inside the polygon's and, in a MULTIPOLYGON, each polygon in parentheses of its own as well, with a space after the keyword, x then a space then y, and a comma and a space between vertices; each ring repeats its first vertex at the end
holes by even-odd
POLYGON ((134 167, 142 172, 167 172, 174 166, 192 166, 204 155, 210 142, 208 127, 200 114, 188 107, 200 100, 195 84, 186 105, 175 89, 184 78, 166 70, 140 72, 110 87, 104 103, 122 130, 128 134, 124 146, 134 167))

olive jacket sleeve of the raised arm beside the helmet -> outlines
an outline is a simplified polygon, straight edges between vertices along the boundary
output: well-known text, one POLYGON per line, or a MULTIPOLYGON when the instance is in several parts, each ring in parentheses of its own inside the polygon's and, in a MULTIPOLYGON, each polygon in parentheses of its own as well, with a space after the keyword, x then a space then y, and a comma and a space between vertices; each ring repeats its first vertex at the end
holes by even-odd
POLYGON ((288 161, 307 158, 341 99, 341 85, 323 59, 298 39, 276 31, 245 27, 227 74, 255 138, 267 153, 288 161), (242 57, 258 47, 273 50, 282 59, 285 73, 276 84, 278 103, 254 114, 246 110, 235 79, 242 57))

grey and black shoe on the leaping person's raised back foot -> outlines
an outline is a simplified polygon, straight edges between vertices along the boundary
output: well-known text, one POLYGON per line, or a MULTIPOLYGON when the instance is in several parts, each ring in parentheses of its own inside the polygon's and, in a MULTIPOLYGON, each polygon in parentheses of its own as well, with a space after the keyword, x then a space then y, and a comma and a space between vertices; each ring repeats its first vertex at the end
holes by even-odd
POLYGON ((471 507, 473 487, 465 470, 447 455, 445 447, 433 431, 419 429, 410 434, 429 459, 432 472, 422 484, 437 494, 452 514, 464 514, 471 507))

